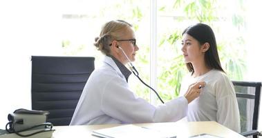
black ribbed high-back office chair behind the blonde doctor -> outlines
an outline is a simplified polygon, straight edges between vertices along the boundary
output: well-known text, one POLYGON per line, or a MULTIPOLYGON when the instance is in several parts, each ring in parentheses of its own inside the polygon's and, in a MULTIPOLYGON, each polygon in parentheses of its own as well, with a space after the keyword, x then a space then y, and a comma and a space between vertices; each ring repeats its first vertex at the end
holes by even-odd
POLYGON ((69 125, 95 58, 32 56, 31 60, 32 110, 49 111, 47 121, 55 126, 69 125))

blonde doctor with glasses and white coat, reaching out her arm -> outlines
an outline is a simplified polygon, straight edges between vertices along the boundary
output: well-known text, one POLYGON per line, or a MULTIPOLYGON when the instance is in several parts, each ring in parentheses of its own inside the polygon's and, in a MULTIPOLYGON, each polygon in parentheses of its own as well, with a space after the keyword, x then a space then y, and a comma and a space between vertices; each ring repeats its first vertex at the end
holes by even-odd
POLYGON ((189 86, 182 97, 153 106, 137 97, 127 83, 129 58, 135 61, 135 34, 126 21, 109 21, 94 44, 104 55, 102 67, 95 69, 77 103, 70 125, 135 124, 178 121, 187 115, 187 105, 200 95, 200 85, 189 86), (124 56, 124 53, 127 57, 124 56))

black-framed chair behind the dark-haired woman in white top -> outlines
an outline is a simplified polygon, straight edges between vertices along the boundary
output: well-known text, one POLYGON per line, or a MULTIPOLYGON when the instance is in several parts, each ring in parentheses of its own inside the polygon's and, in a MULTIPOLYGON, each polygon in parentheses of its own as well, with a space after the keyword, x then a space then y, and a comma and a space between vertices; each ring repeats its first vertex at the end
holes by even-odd
POLYGON ((236 90, 238 108, 241 117, 241 135, 259 137, 259 102, 261 82, 232 81, 236 90))

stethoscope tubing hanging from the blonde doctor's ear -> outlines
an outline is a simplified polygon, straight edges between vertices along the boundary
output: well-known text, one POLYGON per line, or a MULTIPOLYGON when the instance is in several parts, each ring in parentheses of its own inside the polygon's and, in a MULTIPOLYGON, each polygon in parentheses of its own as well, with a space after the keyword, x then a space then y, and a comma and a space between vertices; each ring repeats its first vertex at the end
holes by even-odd
POLYGON ((158 99, 160 99, 160 101, 162 103, 165 103, 161 97, 158 95, 158 92, 156 92, 156 90, 154 90, 153 88, 151 88, 149 85, 147 85, 147 83, 144 83, 144 81, 142 81, 142 79, 139 77, 139 73, 138 73, 138 70, 135 69, 135 66, 133 66, 133 64, 131 63, 129 57, 127 57, 126 53, 124 52, 124 50, 120 47, 120 46, 117 46, 117 48, 120 48, 120 50, 122 50, 122 52, 124 53, 124 57, 127 58, 127 66, 129 66, 129 69, 133 72, 133 75, 135 75, 136 77, 138 77, 138 79, 145 85, 147 86, 148 88, 150 88, 151 90, 153 90, 153 92, 156 93, 156 96, 158 96, 158 99))

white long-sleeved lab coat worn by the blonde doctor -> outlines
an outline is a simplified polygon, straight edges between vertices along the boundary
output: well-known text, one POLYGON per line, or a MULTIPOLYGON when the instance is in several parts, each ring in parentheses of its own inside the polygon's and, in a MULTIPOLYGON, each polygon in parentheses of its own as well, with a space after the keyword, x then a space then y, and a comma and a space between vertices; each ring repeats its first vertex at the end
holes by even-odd
POLYGON ((178 121, 187 115, 187 105, 185 97, 160 106, 137 97, 113 59, 106 56, 86 82, 70 125, 178 121))

